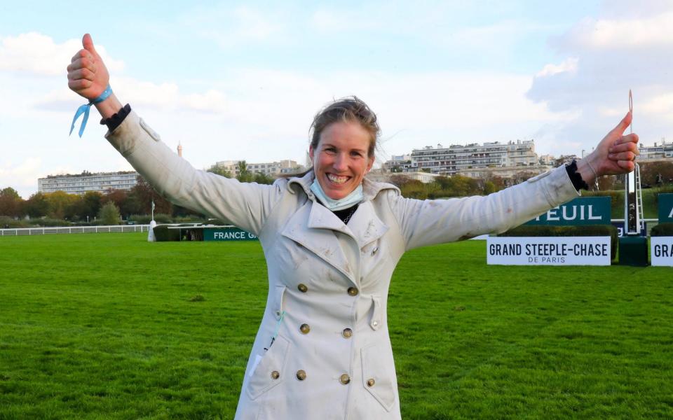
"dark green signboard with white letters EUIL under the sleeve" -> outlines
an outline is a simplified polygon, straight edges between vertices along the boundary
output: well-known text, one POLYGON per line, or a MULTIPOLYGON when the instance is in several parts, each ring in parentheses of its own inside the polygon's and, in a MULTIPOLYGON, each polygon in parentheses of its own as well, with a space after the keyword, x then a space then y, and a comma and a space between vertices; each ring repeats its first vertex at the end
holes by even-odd
POLYGON ((579 197, 554 207, 545 214, 526 222, 526 225, 577 226, 609 225, 610 197, 579 197))

